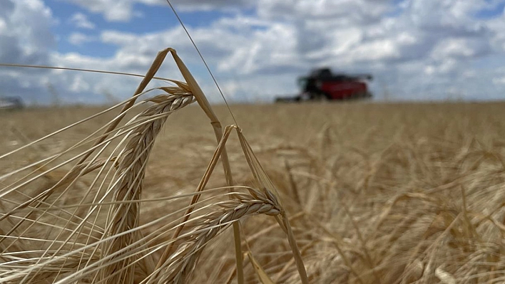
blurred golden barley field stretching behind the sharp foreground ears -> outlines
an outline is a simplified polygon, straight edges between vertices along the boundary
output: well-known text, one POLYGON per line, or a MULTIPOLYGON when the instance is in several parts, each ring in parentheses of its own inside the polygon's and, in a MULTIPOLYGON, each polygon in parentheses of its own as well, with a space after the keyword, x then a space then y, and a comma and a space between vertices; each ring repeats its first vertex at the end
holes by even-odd
MULTIPOLYGON (((235 123, 224 105, 213 108, 223 125, 235 123)), ((125 121, 147 109, 141 106, 125 121)), ((60 107, 1 112, 0 155, 101 110, 60 107)), ((175 266, 167 266, 166 277, 158 275, 153 279, 161 282, 155 283, 238 281, 231 227, 221 231, 221 223, 215 223, 205 231, 205 238, 191 242, 192 236, 203 230, 202 226, 215 219, 215 214, 225 214, 218 216, 220 220, 226 217, 240 222, 245 283, 300 283, 292 248, 277 217, 272 218, 284 209, 309 283, 505 282, 504 103, 307 103, 231 105, 231 110, 275 186, 283 209, 276 207, 275 198, 265 201, 270 205, 257 207, 258 200, 268 199, 268 195, 256 196, 259 191, 250 191, 255 198, 237 195, 226 201, 228 191, 220 191, 227 186, 226 177, 216 167, 207 188, 220 194, 222 200, 201 197, 203 201, 198 204, 202 211, 193 214, 200 219, 190 219, 181 237, 173 242, 178 251, 169 260, 175 266), (233 204, 237 200, 242 204, 233 204), (248 202, 245 211, 240 211, 244 216, 238 216, 238 209, 232 209, 231 215, 226 213, 230 206, 245 206, 248 202), (216 205, 217 209, 213 207, 216 205), (251 216, 245 216, 248 212, 251 216), (203 242, 205 248, 196 250, 198 242, 203 242), (188 249, 193 249, 193 253, 187 253, 188 249), (177 258, 178 252, 184 257, 177 258), (188 262, 186 268, 184 263, 188 262), (191 271, 186 275, 187 270, 191 271)), ((117 112, 107 112, 0 159, 0 175, 61 153, 116 115, 117 112)), ((230 135, 226 144, 230 167, 235 184, 252 190, 257 188, 255 174, 248 167, 241 141, 230 135)), ((150 248, 160 248, 173 239, 168 224, 173 226, 188 208, 191 193, 205 175, 217 145, 208 118, 196 105, 174 112, 160 128, 143 169, 139 216, 128 227, 140 226, 142 236, 156 236, 150 239, 150 248), (162 221, 150 223, 153 220, 162 221)), ((101 154, 113 153, 111 149, 108 147, 101 154)), ((80 148, 72 149, 60 158, 80 152, 80 148)), ((116 161, 112 167, 121 167, 121 162, 116 161)), ((102 254, 83 252, 77 260, 58 256, 53 249, 63 250, 63 245, 45 241, 68 236, 71 241, 66 246, 71 248, 65 249, 71 251, 81 243, 92 243, 90 238, 101 238, 110 214, 91 214, 88 226, 81 227, 81 235, 75 239, 61 230, 74 230, 68 223, 78 223, 86 215, 88 207, 71 204, 81 200, 90 204, 93 202, 89 199, 98 196, 84 196, 85 189, 93 184, 88 175, 68 186, 68 194, 58 196, 60 191, 56 191, 44 202, 6 217, 6 212, 61 180, 71 168, 65 165, 55 169, 26 189, 2 197, 0 279, 6 283, 66 283, 66 276, 86 271, 83 267, 92 266, 95 258, 103 258, 104 251, 114 251, 111 244, 95 246, 102 254), (42 210, 44 204, 51 202, 59 211, 42 210), (73 209, 76 212, 68 213, 73 209), (16 227, 19 220, 24 222, 16 227), (93 222, 101 229, 93 229, 93 222), (14 235, 24 238, 6 237, 14 235), (81 240, 83 236, 88 240, 81 240), (44 257, 60 262, 30 270, 46 261, 36 253, 41 249, 46 250, 44 257)), ((2 179, 1 187, 7 188, 22 174, 2 179)), ((103 205, 103 210, 109 211, 113 206, 103 205)), ((163 258, 163 249, 149 256, 157 261, 163 258)), ((123 263, 116 263, 131 268, 121 271, 123 274, 114 273, 118 268, 113 268, 113 264, 101 263, 105 266, 101 270, 91 270, 73 283, 113 283, 103 275, 106 271, 121 275, 116 280, 130 277, 131 283, 150 283, 146 280, 151 273, 148 261, 143 262, 146 259, 138 258, 133 264, 124 259, 123 263)))

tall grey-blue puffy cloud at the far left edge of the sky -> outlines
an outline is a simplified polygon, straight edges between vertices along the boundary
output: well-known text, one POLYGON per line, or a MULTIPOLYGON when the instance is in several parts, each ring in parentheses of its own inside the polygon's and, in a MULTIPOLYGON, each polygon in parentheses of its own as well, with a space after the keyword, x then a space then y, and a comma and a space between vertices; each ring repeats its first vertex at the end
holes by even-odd
MULTIPOLYGON (((56 41, 51 10, 39 0, 0 1, 0 62, 50 65, 56 41)), ((0 95, 19 95, 27 101, 41 96, 41 69, 0 68, 0 95)), ((43 95, 42 95, 43 96, 43 95)))

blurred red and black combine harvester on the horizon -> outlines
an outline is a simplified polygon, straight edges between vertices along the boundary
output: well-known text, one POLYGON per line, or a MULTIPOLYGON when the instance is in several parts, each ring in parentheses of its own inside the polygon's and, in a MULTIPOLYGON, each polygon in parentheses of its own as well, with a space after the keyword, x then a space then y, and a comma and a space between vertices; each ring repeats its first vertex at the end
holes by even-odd
POLYGON ((307 77, 298 79, 300 95, 275 98, 276 102, 302 102, 309 100, 352 100, 372 98, 365 81, 372 75, 332 74, 329 68, 315 69, 307 77))

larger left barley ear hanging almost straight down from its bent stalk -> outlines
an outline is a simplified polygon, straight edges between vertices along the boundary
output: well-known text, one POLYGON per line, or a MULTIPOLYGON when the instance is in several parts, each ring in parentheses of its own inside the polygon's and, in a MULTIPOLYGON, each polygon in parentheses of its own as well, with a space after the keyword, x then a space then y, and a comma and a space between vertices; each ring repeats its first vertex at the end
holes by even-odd
MULTIPOLYGON (((173 94, 159 95, 149 99, 155 105, 148 107, 138 117, 155 117, 148 123, 141 123, 128 133, 129 140, 118 157, 118 182, 113 188, 112 201, 138 201, 141 199, 143 178, 146 172, 146 164, 153 148, 156 136, 163 127, 168 115, 193 102, 193 95, 185 93, 183 89, 170 89, 173 94)), ((132 122, 135 123, 135 122, 132 122)), ((138 202, 128 204, 113 204, 108 213, 106 232, 103 238, 115 236, 118 233, 131 230, 138 226, 140 206, 138 202)), ((121 261, 104 265, 100 270, 101 280, 106 283, 133 283, 135 263, 138 256, 131 251, 135 250, 136 243, 141 236, 137 232, 131 232, 116 236, 112 241, 105 243, 102 248, 102 256, 110 256, 117 251, 127 248, 124 253, 116 254, 115 258, 121 261), (131 254, 131 256, 129 255, 131 254)))

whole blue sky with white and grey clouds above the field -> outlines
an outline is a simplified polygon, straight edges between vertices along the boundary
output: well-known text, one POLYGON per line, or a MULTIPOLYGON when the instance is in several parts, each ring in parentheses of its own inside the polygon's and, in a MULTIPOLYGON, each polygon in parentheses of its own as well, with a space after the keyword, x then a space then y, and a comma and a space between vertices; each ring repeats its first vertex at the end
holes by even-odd
MULTIPOLYGON (((173 1, 225 95, 272 101, 311 68, 374 74, 375 100, 505 98, 505 0, 173 1)), ((211 100, 206 73, 163 0, 3 0, 0 62, 145 73, 173 47, 211 100)), ((160 75, 180 79, 171 62, 160 75)), ((28 103, 124 99, 138 79, 0 68, 28 103)))

